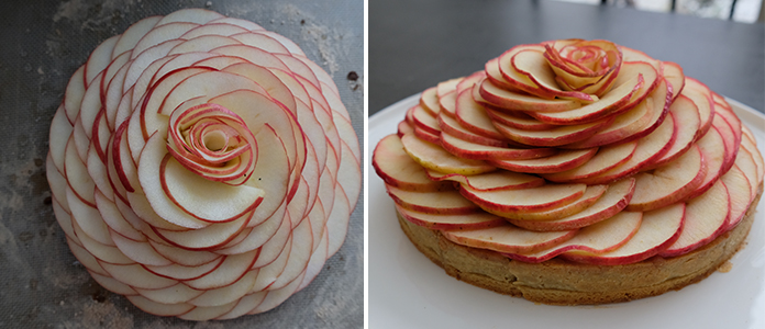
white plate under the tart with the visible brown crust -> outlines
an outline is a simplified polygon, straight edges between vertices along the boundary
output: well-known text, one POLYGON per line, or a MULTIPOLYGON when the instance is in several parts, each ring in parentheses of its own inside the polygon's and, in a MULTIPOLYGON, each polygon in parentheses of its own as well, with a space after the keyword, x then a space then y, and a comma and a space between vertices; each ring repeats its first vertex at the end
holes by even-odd
MULTIPOLYGON (((370 150, 419 95, 369 118, 370 150)), ((731 101, 765 154, 765 116, 731 101)), ((765 213, 757 207, 746 248, 728 273, 716 272, 677 292, 602 306, 548 306, 496 294, 457 281, 420 253, 401 232, 388 197, 369 172, 370 328, 765 328, 765 213)), ((765 202, 764 202, 765 203, 765 202)))

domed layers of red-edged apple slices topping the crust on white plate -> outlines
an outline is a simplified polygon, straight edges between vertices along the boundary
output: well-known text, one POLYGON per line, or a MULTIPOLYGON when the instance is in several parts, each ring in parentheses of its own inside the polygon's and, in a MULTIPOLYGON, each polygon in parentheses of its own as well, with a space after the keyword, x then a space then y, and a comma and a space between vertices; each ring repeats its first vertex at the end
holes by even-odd
POLYGON ((490 250, 503 265, 570 270, 703 248, 742 223, 765 171, 731 105, 677 64, 581 39, 519 45, 423 91, 373 166, 402 227, 490 250))

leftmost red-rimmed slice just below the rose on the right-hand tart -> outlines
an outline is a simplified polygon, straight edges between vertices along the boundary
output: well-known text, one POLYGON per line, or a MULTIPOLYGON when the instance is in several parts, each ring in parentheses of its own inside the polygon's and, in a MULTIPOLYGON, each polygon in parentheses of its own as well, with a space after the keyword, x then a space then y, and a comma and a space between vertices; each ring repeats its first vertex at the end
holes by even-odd
POLYGON ((580 104, 574 100, 561 99, 540 99, 534 95, 522 92, 502 89, 490 80, 486 79, 480 83, 476 83, 479 94, 488 103, 508 110, 534 111, 534 112, 561 112, 574 110, 580 104))

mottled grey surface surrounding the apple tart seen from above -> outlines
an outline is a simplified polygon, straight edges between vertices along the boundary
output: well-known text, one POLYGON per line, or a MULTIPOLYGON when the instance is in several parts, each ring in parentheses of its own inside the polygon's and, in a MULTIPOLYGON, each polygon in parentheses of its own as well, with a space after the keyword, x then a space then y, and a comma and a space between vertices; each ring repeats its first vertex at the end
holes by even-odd
MULTIPOLYGON (((311 285, 278 308, 198 325, 147 315, 101 288, 69 252, 45 179, 48 128, 71 73, 131 23, 207 8, 259 23, 296 43, 334 78, 363 136, 364 7, 357 0, 26 0, 0 11, 0 328, 359 328, 364 217, 311 285)), ((364 200, 362 196, 361 200, 364 200)))

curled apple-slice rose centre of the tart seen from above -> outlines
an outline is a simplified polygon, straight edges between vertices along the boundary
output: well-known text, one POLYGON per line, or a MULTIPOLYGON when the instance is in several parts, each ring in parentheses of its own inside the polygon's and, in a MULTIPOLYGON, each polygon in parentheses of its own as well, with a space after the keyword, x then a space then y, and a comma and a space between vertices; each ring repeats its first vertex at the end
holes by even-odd
POLYGON ((173 112, 167 149, 192 172, 231 185, 244 183, 257 160, 257 143, 245 122, 212 103, 173 112))

